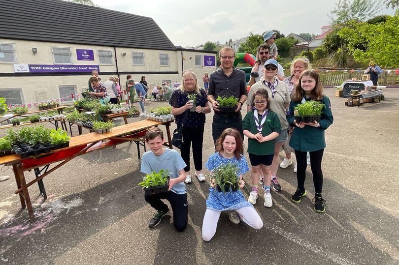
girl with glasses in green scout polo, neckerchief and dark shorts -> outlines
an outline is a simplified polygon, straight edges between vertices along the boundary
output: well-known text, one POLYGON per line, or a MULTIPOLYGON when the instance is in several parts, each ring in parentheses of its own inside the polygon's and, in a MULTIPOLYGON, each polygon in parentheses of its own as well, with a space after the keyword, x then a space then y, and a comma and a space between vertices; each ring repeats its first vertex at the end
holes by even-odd
POLYGON ((252 111, 247 113, 242 121, 242 129, 248 137, 248 153, 251 161, 252 191, 248 202, 256 204, 258 198, 258 182, 260 171, 264 175, 264 190, 266 207, 271 207, 273 202, 270 194, 271 171, 270 165, 274 156, 274 139, 280 135, 281 123, 277 114, 270 110, 270 100, 265 88, 255 90, 252 111))

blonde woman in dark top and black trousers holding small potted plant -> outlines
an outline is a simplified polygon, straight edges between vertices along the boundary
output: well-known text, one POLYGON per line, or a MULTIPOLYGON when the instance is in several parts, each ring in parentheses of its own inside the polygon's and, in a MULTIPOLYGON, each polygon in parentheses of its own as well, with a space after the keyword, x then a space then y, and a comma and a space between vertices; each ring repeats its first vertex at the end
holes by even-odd
POLYGON ((183 73, 180 87, 173 91, 169 104, 172 114, 176 116, 177 127, 183 126, 181 131, 181 157, 186 163, 186 183, 191 182, 190 175, 190 147, 193 145, 194 167, 199 181, 205 181, 202 170, 202 143, 205 126, 205 114, 210 113, 206 93, 198 86, 197 76, 193 70, 183 73))

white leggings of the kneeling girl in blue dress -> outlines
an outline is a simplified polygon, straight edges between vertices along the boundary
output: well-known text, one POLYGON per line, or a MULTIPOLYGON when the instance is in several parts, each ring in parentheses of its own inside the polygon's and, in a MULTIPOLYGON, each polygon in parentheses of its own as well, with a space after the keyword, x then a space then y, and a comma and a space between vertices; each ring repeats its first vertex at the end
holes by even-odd
MULTIPOLYGON (((263 222, 259 214, 253 207, 242 207, 235 210, 241 220, 254 229, 261 229, 263 222)), ((206 209, 202 223, 202 239, 209 241, 216 233, 216 226, 219 221, 221 211, 206 209)))

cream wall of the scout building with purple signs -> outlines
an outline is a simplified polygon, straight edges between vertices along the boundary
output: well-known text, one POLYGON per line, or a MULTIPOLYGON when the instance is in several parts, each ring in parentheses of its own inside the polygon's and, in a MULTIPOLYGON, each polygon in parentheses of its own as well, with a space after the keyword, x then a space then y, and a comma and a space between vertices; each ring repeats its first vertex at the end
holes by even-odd
MULTIPOLYGON (((182 72, 188 69, 195 71, 203 88, 203 74, 216 69, 215 52, 181 47, 150 50, 0 38, 0 50, 0 97, 6 97, 7 104, 42 102, 79 93, 88 87, 91 70, 97 67, 101 82, 110 75, 119 76, 123 88, 127 75, 135 81, 144 75, 151 86, 163 82, 173 86, 181 82, 182 72)), ((65 103, 70 101, 66 99, 65 103)))

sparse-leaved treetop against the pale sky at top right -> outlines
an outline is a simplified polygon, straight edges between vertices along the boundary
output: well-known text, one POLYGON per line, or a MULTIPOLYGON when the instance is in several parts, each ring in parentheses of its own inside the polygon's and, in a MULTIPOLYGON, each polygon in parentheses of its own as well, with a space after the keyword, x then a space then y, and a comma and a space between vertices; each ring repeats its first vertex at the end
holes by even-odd
POLYGON ((332 24, 345 24, 350 20, 365 21, 381 11, 378 0, 339 0, 328 16, 332 24))

